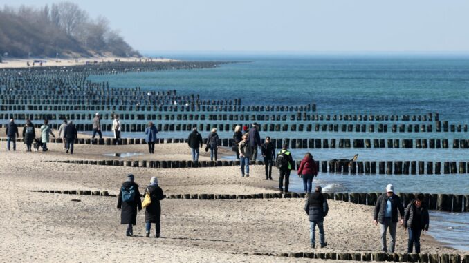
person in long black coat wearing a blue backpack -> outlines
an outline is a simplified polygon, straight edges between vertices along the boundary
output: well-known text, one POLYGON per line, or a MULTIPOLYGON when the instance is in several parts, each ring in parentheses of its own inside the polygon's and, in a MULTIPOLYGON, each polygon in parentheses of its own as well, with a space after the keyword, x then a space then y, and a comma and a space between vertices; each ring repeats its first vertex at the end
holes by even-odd
POLYGON ((138 184, 134 182, 134 175, 127 175, 127 181, 122 183, 119 191, 118 206, 120 210, 120 224, 127 224, 125 235, 134 235, 134 228, 137 224, 137 208, 142 210, 142 200, 138 191, 138 184))

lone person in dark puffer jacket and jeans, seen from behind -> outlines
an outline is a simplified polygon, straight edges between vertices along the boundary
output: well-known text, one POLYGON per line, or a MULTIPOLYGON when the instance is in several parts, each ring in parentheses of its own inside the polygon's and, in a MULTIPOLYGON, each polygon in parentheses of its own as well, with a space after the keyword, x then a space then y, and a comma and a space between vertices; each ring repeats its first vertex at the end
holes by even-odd
POLYGON ((304 205, 304 211, 309 215, 309 240, 311 248, 315 246, 315 228, 319 228, 319 240, 321 242, 321 248, 327 246, 324 237, 324 217, 329 212, 329 206, 327 206, 327 199, 322 195, 321 186, 316 186, 314 193, 309 195, 306 204, 304 205))

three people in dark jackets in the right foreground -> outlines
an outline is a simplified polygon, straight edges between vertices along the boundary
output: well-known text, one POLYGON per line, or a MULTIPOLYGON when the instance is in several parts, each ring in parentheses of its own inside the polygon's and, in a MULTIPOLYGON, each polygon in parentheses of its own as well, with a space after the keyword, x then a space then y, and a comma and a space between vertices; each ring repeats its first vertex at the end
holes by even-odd
MULTIPOLYGON (((380 195, 376 201, 373 215, 374 224, 376 226, 380 224, 381 227, 381 251, 394 253, 396 247, 396 228, 399 221, 409 234, 407 253, 412 253, 414 246, 415 253, 420 253, 421 233, 422 231, 428 231, 429 227, 428 208, 424 201, 425 196, 423 193, 418 193, 414 196, 412 202, 404 208, 401 198, 394 194, 394 186, 392 184, 386 186, 386 193, 380 195), (400 217, 400 220, 398 220, 398 217, 400 217), (389 229, 389 235, 391 235, 389 250, 386 240, 387 229, 389 229)), ((304 211, 309 215, 311 248, 315 248, 316 226, 318 226, 320 235, 320 247, 327 246, 324 235, 324 217, 329 212, 329 206, 327 205, 327 199, 322 195, 321 186, 315 186, 314 193, 311 193, 306 200, 304 211)))

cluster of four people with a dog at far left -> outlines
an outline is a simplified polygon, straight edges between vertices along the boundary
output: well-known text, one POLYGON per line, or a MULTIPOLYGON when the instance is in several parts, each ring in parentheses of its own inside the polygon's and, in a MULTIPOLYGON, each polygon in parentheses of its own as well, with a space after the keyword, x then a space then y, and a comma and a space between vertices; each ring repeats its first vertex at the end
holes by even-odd
MULTIPOLYGON (((39 150, 39 147, 42 148, 42 151, 46 152, 48 150, 47 144, 50 139, 50 135, 55 138, 55 135, 52 131, 52 128, 49 126, 49 121, 44 120, 44 124, 39 128, 40 136, 36 138, 36 130, 34 128, 33 122, 30 119, 26 120, 26 124, 23 127, 23 141, 26 144, 26 151, 32 151, 33 144, 35 144, 35 150, 39 150)), ((6 125, 6 136, 7 136, 7 150, 10 150, 10 145, 13 144, 13 150, 17 150, 17 138, 19 137, 18 126, 15 124, 15 119, 10 119, 6 125)), ((64 149, 66 152, 70 150, 70 153, 73 154, 73 142, 77 138, 77 130, 73 125, 72 121, 67 122, 64 120, 64 123, 59 128, 59 137, 64 139, 64 149)))

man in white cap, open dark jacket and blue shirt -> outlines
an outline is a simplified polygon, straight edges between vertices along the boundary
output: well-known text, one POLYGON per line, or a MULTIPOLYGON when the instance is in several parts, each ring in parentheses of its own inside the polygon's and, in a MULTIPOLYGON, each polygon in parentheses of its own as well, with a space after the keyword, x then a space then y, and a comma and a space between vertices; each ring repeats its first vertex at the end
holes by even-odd
POLYGON ((386 246, 386 231, 389 228, 389 235, 391 235, 391 242, 389 243, 389 252, 394 253, 396 246, 396 227, 398 221, 398 213, 401 215, 401 226, 404 223, 404 206, 401 198, 394 194, 394 186, 388 184, 386 186, 386 193, 380 195, 374 207, 373 222, 378 225, 381 224, 381 250, 385 253, 388 252, 386 246))

